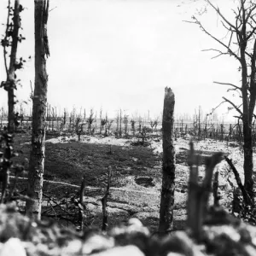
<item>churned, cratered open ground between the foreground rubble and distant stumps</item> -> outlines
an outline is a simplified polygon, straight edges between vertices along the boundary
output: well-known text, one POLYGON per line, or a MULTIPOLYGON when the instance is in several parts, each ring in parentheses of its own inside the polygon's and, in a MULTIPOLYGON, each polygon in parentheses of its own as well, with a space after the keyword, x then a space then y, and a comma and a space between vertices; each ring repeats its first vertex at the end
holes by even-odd
MULTIPOLYGON (((174 230, 183 230, 186 220, 186 199, 188 192, 189 167, 187 153, 191 137, 177 138, 176 145, 176 192, 174 209, 174 230)), ((30 151, 30 134, 16 134, 15 148, 22 154, 15 160, 27 160, 30 151)), ((79 196, 79 186, 85 174, 85 197, 87 222, 91 227, 102 226, 102 196, 104 195, 108 168, 112 170, 112 187, 108 199, 108 226, 139 218, 152 232, 159 222, 161 187, 161 140, 154 136, 148 147, 132 146, 136 138, 116 139, 95 136, 77 137, 48 136, 44 173, 44 208, 55 208, 54 201, 70 196, 79 196), (48 183, 54 181, 55 183, 48 183), (71 184, 70 186, 67 184, 71 184), (73 185, 73 186, 72 186, 73 185), (76 186, 74 186, 76 185, 76 186), (49 201, 51 198, 51 201, 49 201)), ((222 151, 233 159, 242 179, 242 149, 234 142, 205 140, 196 142, 195 149, 202 154, 199 180, 204 177, 204 157, 222 151)), ((220 203, 230 209, 233 174, 223 161, 217 167, 220 172, 220 203)), ((26 177, 26 175, 25 175, 26 177)), ((26 189, 26 180, 19 180, 18 188, 26 189)), ((20 203, 20 206, 22 203, 20 203)), ((68 207, 68 206, 67 206, 68 207)), ((59 218, 57 218, 59 219, 59 218)), ((60 223, 66 225, 65 221, 60 223)))

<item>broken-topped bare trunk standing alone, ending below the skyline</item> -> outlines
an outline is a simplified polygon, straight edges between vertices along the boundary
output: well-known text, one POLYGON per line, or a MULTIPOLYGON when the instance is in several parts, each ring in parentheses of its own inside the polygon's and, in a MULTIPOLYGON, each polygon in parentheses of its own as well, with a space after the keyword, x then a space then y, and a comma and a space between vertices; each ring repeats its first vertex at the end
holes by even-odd
POLYGON ((163 177, 160 199, 159 233, 165 235, 172 230, 174 189, 175 189, 175 148, 173 145, 173 111, 175 98, 171 88, 165 90, 162 121, 163 136, 163 177))

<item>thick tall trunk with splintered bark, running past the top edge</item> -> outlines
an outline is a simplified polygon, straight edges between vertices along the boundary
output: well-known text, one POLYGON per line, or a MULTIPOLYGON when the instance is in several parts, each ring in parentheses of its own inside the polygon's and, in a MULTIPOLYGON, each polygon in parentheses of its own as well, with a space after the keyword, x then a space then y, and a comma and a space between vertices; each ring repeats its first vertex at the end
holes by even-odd
POLYGON ((49 56, 47 20, 49 0, 35 0, 35 89, 32 109, 32 150, 30 153, 26 214, 41 218, 44 182, 45 116, 47 108, 46 57, 49 56))

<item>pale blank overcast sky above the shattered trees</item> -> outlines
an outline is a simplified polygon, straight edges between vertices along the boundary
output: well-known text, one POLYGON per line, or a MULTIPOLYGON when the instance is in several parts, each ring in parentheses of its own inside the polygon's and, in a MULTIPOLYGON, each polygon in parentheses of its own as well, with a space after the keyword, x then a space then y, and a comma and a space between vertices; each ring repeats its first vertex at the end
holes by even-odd
MULTIPOLYGON (((1 23, 6 22, 7 2, 0 3, 1 23)), ((28 99, 29 81, 34 81, 33 2, 20 0, 27 8, 21 14, 26 40, 18 46, 18 56, 32 55, 18 73, 23 84, 20 100, 28 99)), ((212 3, 232 20, 230 9, 236 1, 212 3)), ((130 115, 149 111, 154 118, 162 112, 166 86, 175 93, 177 115, 192 115, 199 106, 207 113, 222 96, 233 100, 226 86, 212 81, 239 84, 238 63, 229 56, 211 59, 216 53, 201 50, 223 48, 198 26, 183 22, 204 6, 203 0, 51 0, 48 102, 69 109, 102 106, 111 116, 119 108, 130 115)), ((226 39, 218 15, 210 8, 200 19, 210 32, 226 39)), ((5 80, 3 55, 0 63, 0 80, 5 80)), ((1 105, 6 97, 1 89, 1 105)), ((220 108, 219 115, 227 107, 220 108)))

